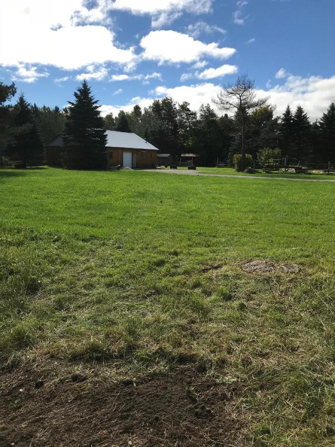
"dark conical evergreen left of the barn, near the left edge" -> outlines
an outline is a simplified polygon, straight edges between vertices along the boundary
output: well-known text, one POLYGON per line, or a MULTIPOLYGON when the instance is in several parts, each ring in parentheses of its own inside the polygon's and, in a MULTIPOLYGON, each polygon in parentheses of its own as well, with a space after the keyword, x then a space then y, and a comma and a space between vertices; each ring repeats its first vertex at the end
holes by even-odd
POLYGON ((31 106, 23 94, 19 96, 13 113, 14 136, 7 146, 6 155, 16 166, 23 168, 43 164, 43 143, 31 106))

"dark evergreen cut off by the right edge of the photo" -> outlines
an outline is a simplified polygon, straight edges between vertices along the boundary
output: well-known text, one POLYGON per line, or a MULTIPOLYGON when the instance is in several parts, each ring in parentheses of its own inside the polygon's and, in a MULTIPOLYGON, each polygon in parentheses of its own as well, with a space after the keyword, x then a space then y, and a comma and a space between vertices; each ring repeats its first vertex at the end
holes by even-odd
POLYGON ((320 120, 322 149, 320 158, 323 163, 335 162, 335 102, 332 102, 320 120))

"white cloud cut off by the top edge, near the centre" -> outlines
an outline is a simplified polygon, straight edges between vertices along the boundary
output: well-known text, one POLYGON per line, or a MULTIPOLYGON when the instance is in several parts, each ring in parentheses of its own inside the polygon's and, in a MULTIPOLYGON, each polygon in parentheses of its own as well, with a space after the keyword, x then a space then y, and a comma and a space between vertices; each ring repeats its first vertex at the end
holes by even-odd
POLYGON ((113 9, 126 10, 135 15, 151 15, 151 24, 159 28, 180 17, 183 11, 193 14, 208 13, 212 0, 115 0, 113 9))

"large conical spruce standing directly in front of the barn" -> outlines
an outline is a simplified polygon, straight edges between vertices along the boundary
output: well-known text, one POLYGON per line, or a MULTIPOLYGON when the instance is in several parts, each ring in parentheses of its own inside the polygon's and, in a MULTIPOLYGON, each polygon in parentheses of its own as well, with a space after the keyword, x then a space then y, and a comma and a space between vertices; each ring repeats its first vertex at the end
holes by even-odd
POLYGON ((65 166, 67 169, 103 169, 107 165, 107 135, 98 101, 86 80, 73 94, 75 102, 68 101, 65 123, 65 166))

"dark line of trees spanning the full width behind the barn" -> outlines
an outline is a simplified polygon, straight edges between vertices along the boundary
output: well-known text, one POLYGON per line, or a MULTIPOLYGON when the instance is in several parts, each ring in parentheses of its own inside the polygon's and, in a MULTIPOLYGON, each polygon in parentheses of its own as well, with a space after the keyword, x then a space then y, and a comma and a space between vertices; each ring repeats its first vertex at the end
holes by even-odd
POLYGON ((268 98, 256 98, 254 83, 246 75, 213 98, 213 103, 231 116, 218 115, 212 104, 203 104, 195 111, 187 101, 177 103, 166 96, 143 109, 135 105, 131 112, 121 110, 116 116, 109 113, 102 119, 98 101, 86 81, 63 110, 29 104, 23 94, 16 104, 8 104, 15 94, 13 83, 0 82, 2 164, 43 164, 48 141, 64 132, 65 145, 71 148, 65 150, 67 167, 102 167, 106 143, 103 129, 134 132, 175 159, 183 152, 199 153, 203 165, 214 165, 217 159, 231 163, 236 153, 242 153, 242 158, 249 153, 256 159, 263 148, 279 148, 281 155, 288 155, 291 161, 335 161, 334 102, 314 122, 301 106, 292 110, 288 105, 281 116, 276 116, 268 98), (89 162, 82 161, 84 155, 89 162))

